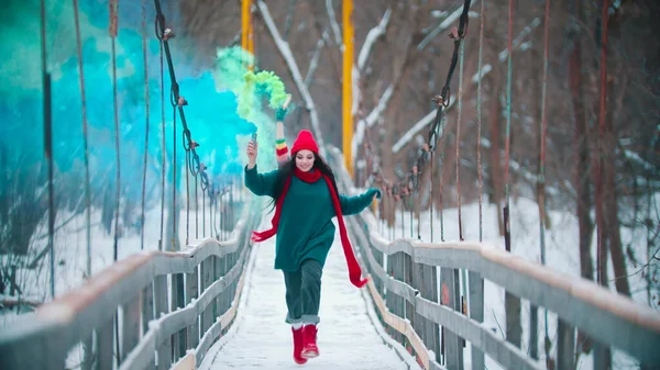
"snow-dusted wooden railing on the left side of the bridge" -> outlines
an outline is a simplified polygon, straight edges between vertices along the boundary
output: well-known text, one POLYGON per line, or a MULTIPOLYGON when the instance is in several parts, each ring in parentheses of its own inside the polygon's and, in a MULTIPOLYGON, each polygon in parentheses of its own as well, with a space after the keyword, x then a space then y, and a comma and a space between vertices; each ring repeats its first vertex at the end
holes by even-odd
POLYGON ((0 333, 0 369, 64 369, 77 346, 91 348, 82 369, 199 365, 237 315, 258 204, 242 206, 224 242, 132 255, 19 317, 0 333))

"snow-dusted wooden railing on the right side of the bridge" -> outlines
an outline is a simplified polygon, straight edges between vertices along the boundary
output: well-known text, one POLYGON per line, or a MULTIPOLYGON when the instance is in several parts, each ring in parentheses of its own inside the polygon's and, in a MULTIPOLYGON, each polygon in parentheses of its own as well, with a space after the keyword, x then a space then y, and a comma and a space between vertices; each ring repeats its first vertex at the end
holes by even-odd
MULTIPOLYGON (((341 153, 336 148, 329 153, 339 172, 338 186, 354 192, 341 153)), ((425 369, 463 369, 464 340, 472 345, 472 369, 484 369, 484 354, 506 369, 546 369, 482 324, 484 279, 557 314, 558 369, 574 369, 576 329, 594 340, 596 352, 617 348, 636 358, 641 369, 660 363, 660 313, 593 281, 482 243, 388 242, 377 234, 377 221, 370 212, 346 220, 360 262, 370 273, 369 291, 382 323, 425 369), (459 289, 462 271, 469 276, 466 298, 459 289)), ((603 368, 595 356, 594 369, 603 368)))

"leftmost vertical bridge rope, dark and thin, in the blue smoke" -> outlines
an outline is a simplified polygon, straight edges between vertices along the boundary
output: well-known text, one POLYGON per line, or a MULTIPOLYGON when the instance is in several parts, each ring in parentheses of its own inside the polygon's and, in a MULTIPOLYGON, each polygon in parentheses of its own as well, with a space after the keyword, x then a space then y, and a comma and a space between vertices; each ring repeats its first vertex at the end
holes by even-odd
POLYGON ((44 155, 48 161, 48 250, 51 257, 51 299, 55 299, 55 200, 53 189, 53 115, 51 105, 51 74, 47 66, 46 49, 46 4, 41 0, 41 57, 44 110, 44 155))

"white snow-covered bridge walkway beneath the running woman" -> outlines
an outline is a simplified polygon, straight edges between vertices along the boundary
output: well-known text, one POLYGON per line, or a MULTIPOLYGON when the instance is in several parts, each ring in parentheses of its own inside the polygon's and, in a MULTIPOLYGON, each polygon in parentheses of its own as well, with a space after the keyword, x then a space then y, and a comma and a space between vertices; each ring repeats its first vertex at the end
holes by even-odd
MULTIPOLYGON (((270 223, 271 217, 264 217, 270 223)), ((266 224, 263 224, 265 226, 266 224)), ((209 349, 200 369, 299 369, 294 362, 282 271, 273 269, 274 238, 256 244, 239 316, 228 335, 209 349)), ((305 367, 319 370, 419 369, 404 348, 387 340, 366 289, 349 282, 339 235, 323 269, 318 345, 320 356, 305 367)))

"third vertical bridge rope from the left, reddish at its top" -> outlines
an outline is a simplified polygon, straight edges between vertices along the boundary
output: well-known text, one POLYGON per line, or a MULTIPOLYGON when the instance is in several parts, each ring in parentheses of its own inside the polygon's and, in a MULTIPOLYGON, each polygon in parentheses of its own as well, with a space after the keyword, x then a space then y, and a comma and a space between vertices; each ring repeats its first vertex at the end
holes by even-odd
POLYGON ((114 150, 117 157, 117 171, 116 171, 116 193, 114 193, 114 248, 113 248, 113 260, 117 261, 118 253, 119 253, 119 205, 120 205, 120 194, 121 194, 121 160, 119 153, 119 109, 118 109, 118 100, 117 100, 117 31, 118 31, 118 11, 119 11, 119 0, 110 0, 110 38, 112 41, 112 102, 113 102, 113 111, 114 111, 114 150))

